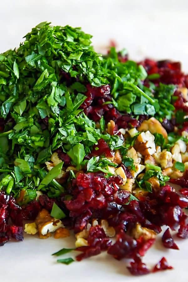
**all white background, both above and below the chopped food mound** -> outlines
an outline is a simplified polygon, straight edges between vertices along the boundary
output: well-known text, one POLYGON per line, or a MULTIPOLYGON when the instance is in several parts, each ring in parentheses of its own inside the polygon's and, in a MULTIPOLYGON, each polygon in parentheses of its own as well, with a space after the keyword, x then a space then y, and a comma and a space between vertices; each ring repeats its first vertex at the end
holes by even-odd
MULTIPOLYGON (((0 0, 0 52, 19 45, 36 24, 81 26, 93 34, 93 44, 104 50, 110 39, 126 47, 131 58, 145 56, 180 60, 188 72, 188 1, 186 0, 0 0)), ((139 281, 187 282, 188 242, 175 238, 180 250, 169 250, 158 243, 147 253, 149 267, 165 256, 175 270, 132 277, 125 261, 107 254, 69 266, 56 263, 51 253, 73 247, 72 239, 40 240, 26 236, 24 242, 0 247, 0 281, 139 281)), ((69 254, 68 254, 69 256, 69 254)), ((68 257, 67 256, 67 257, 68 257)))

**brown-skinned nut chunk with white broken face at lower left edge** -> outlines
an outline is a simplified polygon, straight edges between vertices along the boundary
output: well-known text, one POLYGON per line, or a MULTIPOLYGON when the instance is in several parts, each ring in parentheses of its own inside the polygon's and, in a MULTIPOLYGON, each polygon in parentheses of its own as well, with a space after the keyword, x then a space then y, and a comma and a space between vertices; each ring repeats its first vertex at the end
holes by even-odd
POLYGON ((59 219, 51 217, 50 213, 45 209, 39 212, 35 223, 38 227, 40 238, 47 238, 50 236, 50 232, 55 232, 58 228, 64 227, 59 219))

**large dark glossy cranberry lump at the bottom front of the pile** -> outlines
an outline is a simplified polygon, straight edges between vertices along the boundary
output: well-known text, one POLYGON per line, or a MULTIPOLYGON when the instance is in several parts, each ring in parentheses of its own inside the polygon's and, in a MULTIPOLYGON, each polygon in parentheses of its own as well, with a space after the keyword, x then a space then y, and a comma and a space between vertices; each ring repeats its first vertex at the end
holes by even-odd
POLYGON ((116 243, 109 247, 108 253, 115 259, 131 258, 136 247, 136 240, 121 231, 117 235, 116 243))

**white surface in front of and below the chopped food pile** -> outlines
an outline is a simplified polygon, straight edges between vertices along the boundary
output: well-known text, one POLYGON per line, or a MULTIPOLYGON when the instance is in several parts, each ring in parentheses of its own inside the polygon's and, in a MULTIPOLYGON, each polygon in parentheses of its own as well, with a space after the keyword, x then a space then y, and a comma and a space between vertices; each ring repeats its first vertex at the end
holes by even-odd
MULTIPOLYGON (((165 228, 163 228, 165 230, 165 228)), ((162 232, 163 233, 163 232, 162 232)), ((60 257, 51 256, 61 248, 74 248, 74 236, 61 239, 39 239, 25 235, 23 242, 8 242, 0 248, 0 281, 2 282, 111 282, 139 281, 165 282, 188 281, 188 242, 174 236, 180 250, 164 248, 161 235, 157 236, 154 246, 144 257, 149 268, 165 256, 173 270, 159 271, 154 274, 135 277, 130 275, 126 266, 128 260, 118 261, 107 253, 73 262, 70 265, 56 263, 58 258, 75 257, 77 252, 60 257)))

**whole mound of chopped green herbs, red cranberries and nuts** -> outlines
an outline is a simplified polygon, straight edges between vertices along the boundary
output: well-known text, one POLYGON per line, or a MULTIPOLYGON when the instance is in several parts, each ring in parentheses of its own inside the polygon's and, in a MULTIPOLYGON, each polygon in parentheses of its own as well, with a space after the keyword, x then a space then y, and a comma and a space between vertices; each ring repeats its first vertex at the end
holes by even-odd
POLYGON ((178 249, 170 229, 188 237, 188 76, 90 39, 44 22, 0 55, 0 245, 72 229, 77 261, 106 251, 134 275, 171 269, 142 257, 164 225, 165 248, 178 249))

